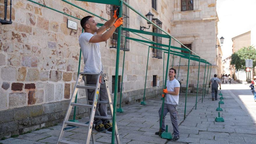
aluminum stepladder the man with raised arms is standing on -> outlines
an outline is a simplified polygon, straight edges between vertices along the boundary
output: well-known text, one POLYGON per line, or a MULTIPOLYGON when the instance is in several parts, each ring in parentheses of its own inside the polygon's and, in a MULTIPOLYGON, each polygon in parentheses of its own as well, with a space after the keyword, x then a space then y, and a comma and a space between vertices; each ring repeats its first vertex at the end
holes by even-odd
MULTIPOLYGON (((113 119, 113 105, 112 105, 112 101, 111 101, 111 96, 110 96, 110 92, 109 92, 109 86, 108 86, 108 83, 107 83, 106 74, 102 74, 102 73, 100 73, 100 74, 91 74, 91 73, 80 72, 79 76, 77 78, 75 87, 74 87, 74 91, 73 91, 72 96, 70 98, 70 103, 69 103, 69 106, 68 106, 68 109, 67 109, 67 112, 66 112, 63 124, 62 124, 61 132, 59 134, 57 144, 78 144, 78 143, 74 143, 72 141, 65 141, 65 140, 63 140, 64 129, 67 127, 67 125, 88 128, 86 144, 90 143, 90 137, 91 136, 92 136, 92 140, 93 140, 93 143, 94 143, 95 142, 95 133, 97 132, 97 131, 93 131, 92 132, 94 118, 113 119), (87 84, 86 83, 86 75, 97 75, 98 78, 97 78, 96 85, 87 84), (105 85, 101 85, 101 83, 99 83, 100 77, 104 78, 105 85), (82 79, 84 79, 84 86, 80 86, 80 83, 81 83, 82 79), (79 88, 94 89, 95 92, 94 92, 93 100, 88 100, 88 92, 86 90, 87 104, 74 103, 75 97, 76 97, 76 94, 77 94, 77 91, 78 91, 79 88), (98 96, 99 96, 100 88, 105 88, 106 89, 106 92, 107 92, 107 95, 108 95, 108 102, 107 101, 98 101, 98 96), (95 115, 97 103, 109 104, 109 108, 110 108, 110 112, 111 112, 111 117, 104 117, 104 116, 95 115), (89 120, 88 124, 80 123, 80 122, 70 122, 70 121, 68 121, 68 118, 70 116, 70 113, 71 113, 71 110, 72 110, 73 106, 80 106, 80 107, 89 108, 90 120, 89 120)), ((118 128, 117 128, 116 124, 115 124, 115 138, 116 138, 117 144, 121 144, 120 143, 119 134, 118 134, 118 128)))

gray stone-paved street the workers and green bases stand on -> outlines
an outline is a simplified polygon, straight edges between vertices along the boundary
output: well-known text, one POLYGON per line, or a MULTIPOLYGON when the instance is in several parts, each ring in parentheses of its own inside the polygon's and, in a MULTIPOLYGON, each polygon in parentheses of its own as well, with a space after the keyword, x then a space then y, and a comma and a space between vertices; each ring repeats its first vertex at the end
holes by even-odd
MULTIPOLYGON (((184 94, 180 96, 178 114, 180 138, 174 142, 162 139, 154 133, 159 130, 158 110, 160 98, 146 100, 147 105, 139 103, 123 107, 124 113, 117 113, 117 125, 120 141, 124 144, 250 144, 256 143, 255 105, 253 96, 247 85, 224 84, 223 111, 220 112, 225 122, 215 122, 218 116, 218 101, 212 101, 206 95, 202 102, 202 94, 198 96, 195 109, 195 95, 189 94, 186 103, 186 119, 184 118, 184 94)), ((210 94, 211 90, 209 90, 210 94)), ((87 122, 88 118, 79 120, 87 122)), ((166 117, 169 131, 173 132, 170 115, 166 117)), ((16 138, 0 141, 3 144, 45 144, 56 143, 61 125, 32 131, 16 138)), ((85 128, 74 128, 65 131, 65 140, 85 143, 85 128)), ((96 134, 96 143, 111 143, 111 134, 96 134)))

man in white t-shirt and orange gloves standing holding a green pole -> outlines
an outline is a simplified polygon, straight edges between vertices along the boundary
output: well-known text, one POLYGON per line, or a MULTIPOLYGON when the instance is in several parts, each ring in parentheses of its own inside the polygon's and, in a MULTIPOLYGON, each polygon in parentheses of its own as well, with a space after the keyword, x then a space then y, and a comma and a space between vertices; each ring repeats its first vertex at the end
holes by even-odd
MULTIPOLYGON (((173 125, 173 141, 177 141, 179 139, 179 126, 178 126, 178 113, 177 113, 177 105, 179 104, 179 81, 175 79, 176 70, 171 68, 169 70, 169 80, 166 82, 166 89, 163 89, 162 97, 166 97, 166 101, 163 107, 163 120, 162 120, 162 131, 165 131, 166 127, 164 124, 166 114, 170 112, 170 117, 173 125)), ((159 109, 159 121, 161 120, 162 107, 159 109)), ((155 133, 159 135, 159 131, 155 133)))

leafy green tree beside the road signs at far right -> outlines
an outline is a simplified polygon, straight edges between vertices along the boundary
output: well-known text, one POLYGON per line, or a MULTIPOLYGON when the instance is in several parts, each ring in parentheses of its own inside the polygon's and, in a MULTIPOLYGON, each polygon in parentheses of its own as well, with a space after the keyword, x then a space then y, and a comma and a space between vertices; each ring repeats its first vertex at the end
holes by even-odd
POLYGON ((252 59, 253 67, 256 66, 256 49, 253 46, 243 47, 231 55, 231 65, 236 67, 236 70, 245 70, 245 60, 252 59))

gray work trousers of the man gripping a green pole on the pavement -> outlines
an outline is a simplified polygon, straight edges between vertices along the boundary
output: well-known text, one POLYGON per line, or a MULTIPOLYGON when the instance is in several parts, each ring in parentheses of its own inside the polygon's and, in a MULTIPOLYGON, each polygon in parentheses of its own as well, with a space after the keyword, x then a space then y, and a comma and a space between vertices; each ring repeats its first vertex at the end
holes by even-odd
MULTIPOLYGON (((174 104, 166 104, 164 103, 164 107, 163 107, 163 120, 162 120, 162 131, 165 131, 165 124, 164 124, 164 120, 166 117, 166 114, 168 112, 170 112, 170 117, 171 117, 171 121, 172 121, 172 125, 173 125, 173 133, 174 136, 179 136, 179 125, 178 125, 178 117, 177 117, 177 105, 174 104)), ((161 120, 161 111, 162 111, 162 106, 159 109, 159 123, 161 120)))

